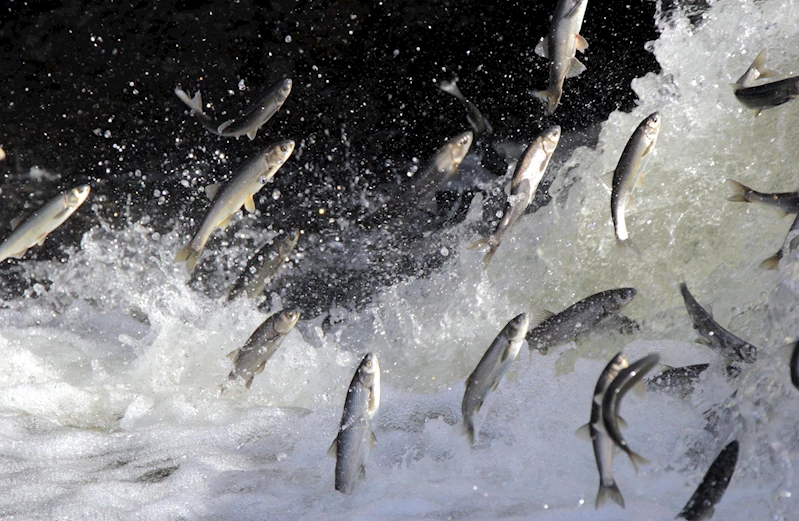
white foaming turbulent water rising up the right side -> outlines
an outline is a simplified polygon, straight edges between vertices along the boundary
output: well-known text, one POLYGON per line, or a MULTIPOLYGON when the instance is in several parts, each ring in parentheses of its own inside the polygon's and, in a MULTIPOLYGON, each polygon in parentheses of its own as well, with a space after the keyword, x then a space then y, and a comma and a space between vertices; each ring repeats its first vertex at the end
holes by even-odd
MULTIPOLYGON (((379 290, 366 309, 333 309, 324 328, 321 319, 302 324, 249 392, 220 396, 231 369, 225 355, 267 313, 186 284, 184 267, 172 261, 183 228, 161 235, 146 218, 123 229, 98 222, 68 262, 27 262, 28 275, 47 283, 0 309, 0 512, 15 519, 673 519, 734 437, 741 456, 715 519, 799 519, 799 391, 783 347, 799 333, 799 254, 779 271, 761 270, 790 218, 727 202, 724 184, 796 189, 799 101, 755 119, 729 84, 764 48, 770 68, 799 72, 797 12, 796 1, 741 0, 712 2, 694 23, 679 12, 664 16, 652 44, 663 71, 634 82, 640 106, 613 113, 597 146, 559 165, 553 202, 518 223, 488 270, 463 248, 482 219, 476 201, 448 231, 459 246, 442 247, 440 269, 379 290), (663 118, 656 153, 628 217, 639 257, 616 247, 600 177, 655 110, 663 118), (694 343, 681 281, 720 323, 759 347, 757 363, 736 380, 694 343), (546 356, 523 348, 477 415, 470 449, 459 425, 463 382, 505 323, 619 286, 638 290, 627 313, 641 331, 595 335, 546 356), (636 475, 617 457, 627 508, 595 510, 594 455, 574 431, 588 420, 600 371, 621 349, 631 359, 656 352, 672 366, 712 365, 684 399, 625 398, 625 436, 651 463, 636 475), (366 480, 344 496, 333 488, 326 452, 367 350, 383 369, 378 444, 366 480), (715 407, 717 428, 707 429, 703 413, 736 389, 734 402, 715 407)), ((296 262, 302 266, 301 254, 296 262)), ((281 308, 279 292, 269 303, 281 308)))

